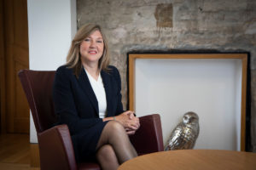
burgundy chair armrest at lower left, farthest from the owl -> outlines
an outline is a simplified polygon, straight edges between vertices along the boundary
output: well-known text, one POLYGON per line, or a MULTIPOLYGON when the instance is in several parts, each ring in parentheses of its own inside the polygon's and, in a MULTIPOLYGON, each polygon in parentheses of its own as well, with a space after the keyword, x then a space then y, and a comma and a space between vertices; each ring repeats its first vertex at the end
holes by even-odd
POLYGON ((67 125, 58 125, 38 133, 38 144, 41 170, 77 170, 67 125))

